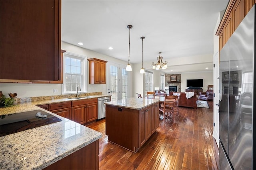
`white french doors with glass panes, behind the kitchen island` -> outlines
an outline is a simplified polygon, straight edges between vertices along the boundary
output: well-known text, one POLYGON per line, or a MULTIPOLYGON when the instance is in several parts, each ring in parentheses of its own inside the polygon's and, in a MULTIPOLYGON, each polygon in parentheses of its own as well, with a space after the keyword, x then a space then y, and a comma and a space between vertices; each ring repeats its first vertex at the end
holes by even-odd
POLYGON ((107 92, 111 101, 125 99, 128 96, 128 76, 126 66, 108 62, 107 92))

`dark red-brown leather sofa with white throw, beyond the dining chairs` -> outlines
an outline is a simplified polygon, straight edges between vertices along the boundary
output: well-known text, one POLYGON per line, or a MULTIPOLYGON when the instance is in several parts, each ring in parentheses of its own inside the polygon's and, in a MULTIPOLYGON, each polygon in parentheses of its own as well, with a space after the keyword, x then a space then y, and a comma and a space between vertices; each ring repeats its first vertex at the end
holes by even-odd
MULTIPOLYGON (((175 92, 178 93, 178 92, 175 92)), ((169 95, 172 96, 173 92, 169 92, 169 95)), ((183 106, 183 107, 193 107, 194 109, 196 109, 196 93, 194 93, 194 96, 192 96, 191 98, 186 98, 186 94, 185 92, 180 92, 180 101, 179 101, 179 107, 183 106)))

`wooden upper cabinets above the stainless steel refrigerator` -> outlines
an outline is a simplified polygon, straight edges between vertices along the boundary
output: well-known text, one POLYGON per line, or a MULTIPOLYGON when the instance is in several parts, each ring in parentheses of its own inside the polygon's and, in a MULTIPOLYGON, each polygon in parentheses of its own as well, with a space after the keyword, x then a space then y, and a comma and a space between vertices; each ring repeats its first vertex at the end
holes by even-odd
POLYGON ((219 50, 224 47, 256 0, 230 0, 220 22, 216 35, 219 36, 219 50))

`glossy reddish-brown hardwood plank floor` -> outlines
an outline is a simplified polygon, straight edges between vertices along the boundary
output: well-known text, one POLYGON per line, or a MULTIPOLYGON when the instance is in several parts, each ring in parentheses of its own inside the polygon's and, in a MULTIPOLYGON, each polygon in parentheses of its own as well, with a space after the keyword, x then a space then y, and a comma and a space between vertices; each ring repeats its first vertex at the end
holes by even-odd
POLYGON ((213 102, 208 104, 210 109, 180 107, 176 123, 160 120, 157 131, 136 153, 108 142, 105 119, 87 125, 102 133, 100 170, 217 170, 213 102))

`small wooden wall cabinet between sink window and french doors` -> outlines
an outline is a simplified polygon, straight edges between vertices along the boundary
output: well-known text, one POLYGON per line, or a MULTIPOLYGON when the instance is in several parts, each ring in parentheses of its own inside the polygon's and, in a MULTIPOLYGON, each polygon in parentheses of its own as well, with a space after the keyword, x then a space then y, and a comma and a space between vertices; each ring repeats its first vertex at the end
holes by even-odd
POLYGON ((91 58, 89 61, 89 83, 106 84, 106 63, 100 59, 91 58))

